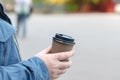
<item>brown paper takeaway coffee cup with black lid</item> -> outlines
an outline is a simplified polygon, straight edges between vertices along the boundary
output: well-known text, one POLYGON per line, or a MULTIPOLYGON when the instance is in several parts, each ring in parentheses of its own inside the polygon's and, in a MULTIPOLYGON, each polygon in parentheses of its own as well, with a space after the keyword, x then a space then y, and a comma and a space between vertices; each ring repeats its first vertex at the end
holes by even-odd
POLYGON ((53 37, 51 53, 70 51, 74 45, 74 38, 68 35, 57 33, 53 37))

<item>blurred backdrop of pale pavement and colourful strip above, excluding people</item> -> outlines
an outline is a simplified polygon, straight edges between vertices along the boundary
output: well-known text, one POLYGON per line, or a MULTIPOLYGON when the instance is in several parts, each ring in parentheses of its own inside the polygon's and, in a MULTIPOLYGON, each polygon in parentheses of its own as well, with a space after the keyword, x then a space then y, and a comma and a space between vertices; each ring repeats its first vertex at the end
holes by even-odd
MULTIPOLYGON (((14 0, 1 0, 16 25, 14 0)), ((120 80, 120 0, 33 0, 27 36, 18 36, 26 60, 56 33, 75 38, 72 67, 58 80, 120 80)))

